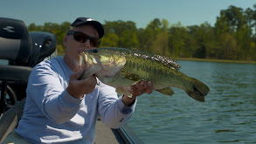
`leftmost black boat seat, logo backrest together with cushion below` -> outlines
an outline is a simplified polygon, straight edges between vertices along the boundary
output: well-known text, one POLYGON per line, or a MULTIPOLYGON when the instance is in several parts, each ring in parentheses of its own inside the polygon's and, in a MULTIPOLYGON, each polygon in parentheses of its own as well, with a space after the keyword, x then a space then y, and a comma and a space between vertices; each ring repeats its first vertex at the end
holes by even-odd
POLYGON ((0 17, 0 59, 16 65, 0 65, 0 80, 26 83, 32 70, 24 65, 31 54, 31 37, 23 21, 0 17))

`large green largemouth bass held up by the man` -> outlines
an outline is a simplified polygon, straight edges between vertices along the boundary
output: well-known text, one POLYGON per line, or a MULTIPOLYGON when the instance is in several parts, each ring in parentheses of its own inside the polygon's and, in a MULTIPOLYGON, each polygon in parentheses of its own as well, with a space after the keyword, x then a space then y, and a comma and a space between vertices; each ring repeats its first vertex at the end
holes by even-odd
POLYGON ((204 102, 210 88, 203 82, 180 72, 180 65, 172 58, 127 48, 105 47, 81 51, 79 63, 85 71, 80 79, 96 76, 118 94, 132 97, 129 87, 140 80, 150 81, 153 89, 173 95, 171 87, 183 89, 191 98, 204 102))

